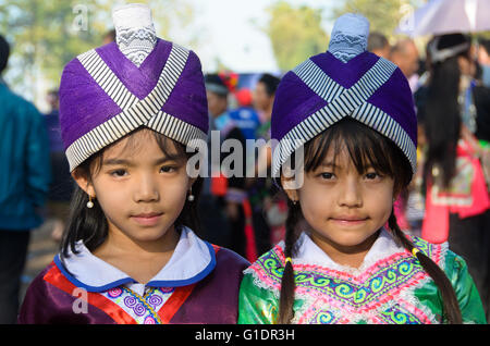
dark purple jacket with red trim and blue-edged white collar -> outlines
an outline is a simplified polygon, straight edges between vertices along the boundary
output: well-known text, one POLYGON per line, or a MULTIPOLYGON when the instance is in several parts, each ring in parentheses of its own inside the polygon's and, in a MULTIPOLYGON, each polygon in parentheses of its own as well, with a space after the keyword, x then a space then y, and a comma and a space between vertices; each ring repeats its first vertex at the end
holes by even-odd
POLYGON ((30 284, 19 323, 236 323, 238 286, 247 262, 182 231, 170 261, 146 285, 78 243, 30 284))

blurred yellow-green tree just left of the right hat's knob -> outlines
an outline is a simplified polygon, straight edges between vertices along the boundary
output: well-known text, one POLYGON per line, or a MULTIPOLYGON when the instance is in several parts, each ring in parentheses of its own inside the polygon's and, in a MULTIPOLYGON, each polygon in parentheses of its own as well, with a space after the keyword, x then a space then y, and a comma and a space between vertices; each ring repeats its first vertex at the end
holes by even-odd
POLYGON ((289 71, 308 57, 327 50, 328 35, 321 27, 322 11, 307 7, 293 8, 279 1, 268 8, 269 36, 279 69, 289 71))

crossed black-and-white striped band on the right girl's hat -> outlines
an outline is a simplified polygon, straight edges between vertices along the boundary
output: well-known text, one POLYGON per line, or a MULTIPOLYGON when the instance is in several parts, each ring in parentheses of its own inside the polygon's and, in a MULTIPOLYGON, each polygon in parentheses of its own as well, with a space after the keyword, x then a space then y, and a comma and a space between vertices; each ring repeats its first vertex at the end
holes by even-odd
POLYGON ((272 175, 279 177, 281 166, 296 149, 345 116, 393 140, 409 160, 415 173, 416 144, 390 114, 367 102, 395 70, 394 63, 380 58, 352 87, 344 88, 310 59, 296 66, 294 74, 328 104, 308 115, 279 140, 273 150, 272 175))

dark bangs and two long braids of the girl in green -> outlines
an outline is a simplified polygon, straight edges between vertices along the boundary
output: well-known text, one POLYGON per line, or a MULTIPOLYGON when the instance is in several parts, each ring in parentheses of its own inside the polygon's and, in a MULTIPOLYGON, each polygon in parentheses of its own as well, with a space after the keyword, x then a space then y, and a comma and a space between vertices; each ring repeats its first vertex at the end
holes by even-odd
MULTIPOLYGON (((380 174, 393 177, 394 191, 401 193, 406 189, 412 180, 411 164, 399 147, 390 139, 355 120, 346 118, 305 144, 305 172, 316 170, 324 160, 330 148, 334 150, 334 160, 336 160, 341 150, 345 148, 359 174, 363 174, 365 168, 371 164, 380 174)), ((296 225, 303 219, 303 213, 299 202, 294 205, 289 200, 287 205, 284 256, 294 258, 296 252, 295 243, 298 238, 296 225)), ((414 244, 400 230, 393 210, 389 219, 389 226, 395 242, 408 251, 412 251, 414 244)), ((461 323, 462 317, 457 298, 445 273, 422 252, 417 252, 417 259, 441 292, 443 311, 448 321, 450 323, 461 323)), ((291 323, 294 314, 294 291, 293 265, 287 261, 284 267, 279 299, 277 322, 280 324, 291 323)))

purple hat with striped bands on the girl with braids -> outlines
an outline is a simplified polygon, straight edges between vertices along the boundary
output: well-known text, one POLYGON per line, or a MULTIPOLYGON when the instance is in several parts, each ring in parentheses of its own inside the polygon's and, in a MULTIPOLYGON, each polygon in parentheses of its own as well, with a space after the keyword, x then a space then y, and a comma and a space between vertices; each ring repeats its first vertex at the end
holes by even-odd
POLYGON ((369 22, 347 13, 334 24, 329 50, 282 78, 272 109, 272 174, 302 145, 345 116, 393 140, 416 171, 417 120, 408 82, 392 62, 366 51, 369 22))

